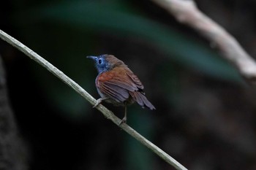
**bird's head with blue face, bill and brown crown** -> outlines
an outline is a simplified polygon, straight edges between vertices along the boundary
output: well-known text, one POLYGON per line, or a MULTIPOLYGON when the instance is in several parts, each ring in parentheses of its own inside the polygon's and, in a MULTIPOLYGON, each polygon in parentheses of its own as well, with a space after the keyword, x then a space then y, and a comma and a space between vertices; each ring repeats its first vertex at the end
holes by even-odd
POLYGON ((114 55, 104 54, 99 56, 87 56, 87 58, 94 60, 98 73, 109 71, 115 66, 126 66, 123 61, 119 60, 114 55))

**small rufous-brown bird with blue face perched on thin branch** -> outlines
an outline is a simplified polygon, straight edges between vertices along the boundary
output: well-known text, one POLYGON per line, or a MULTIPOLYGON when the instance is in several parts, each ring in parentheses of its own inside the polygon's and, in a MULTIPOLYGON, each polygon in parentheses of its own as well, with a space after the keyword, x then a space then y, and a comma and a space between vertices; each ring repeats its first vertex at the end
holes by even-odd
POLYGON ((124 117, 119 123, 127 123, 127 105, 137 102, 141 107, 156 109, 145 96, 144 86, 128 66, 114 55, 87 56, 94 61, 98 75, 95 85, 100 98, 94 107, 102 101, 114 106, 124 107, 124 117))

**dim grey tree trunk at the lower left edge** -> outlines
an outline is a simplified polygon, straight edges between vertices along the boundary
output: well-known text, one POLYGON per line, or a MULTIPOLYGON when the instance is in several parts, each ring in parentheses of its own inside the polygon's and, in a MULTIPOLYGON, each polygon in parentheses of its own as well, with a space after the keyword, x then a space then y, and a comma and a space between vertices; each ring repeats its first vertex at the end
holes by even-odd
POLYGON ((18 136, 18 128, 10 107, 4 66, 0 56, 0 169, 26 170, 26 151, 18 136))

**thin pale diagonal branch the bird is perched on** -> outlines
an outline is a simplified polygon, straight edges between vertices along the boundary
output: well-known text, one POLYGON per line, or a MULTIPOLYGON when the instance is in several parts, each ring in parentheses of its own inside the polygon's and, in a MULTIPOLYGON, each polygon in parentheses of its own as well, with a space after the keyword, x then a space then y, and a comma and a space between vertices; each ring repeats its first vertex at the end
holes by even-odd
MULTIPOLYGON (((4 39, 4 41, 8 42, 13 47, 16 47, 21 52, 25 53, 29 58, 33 59, 34 61, 37 61, 41 66, 45 67, 45 69, 48 69, 49 72, 56 75, 60 80, 65 82, 67 85, 69 85, 72 89, 74 89, 76 92, 78 92, 81 96, 86 98, 87 101, 89 101, 92 105, 96 104, 96 99, 93 98, 89 93, 86 92, 83 88, 78 85, 78 83, 71 80, 67 75, 65 75, 63 72, 61 72, 59 69, 57 69, 55 66, 53 66, 51 63, 46 61, 44 58, 39 56, 37 53, 34 53, 29 47, 26 47, 21 42, 18 42, 17 39, 13 38, 12 36, 4 33, 4 31, 0 30, 0 37, 1 39, 4 39)), ((113 114, 109 109, 104 107, 102 104, 99 104, 97 109, 102 112, 105 117, 110 119, 113 123, 116 125, 119 125, 120 119, 116 117, 116 115, 113 114)), ((146 147, 148 147, 151 151, 155 152, 157 155, 159 155, 160 158, 165 160, 167 163, 172 165, 178 170, 186 170, 184 166, 181 165, 181 163, 178 163, 175 159, 173 159, 170 155, 167 155, 166 152, 161 150, 159 147, 154 145, 152 142, 148 141, 145 137, 140 135, 137 131, 129 127, 126 123, 123 123, 121 125, 121 128, 126 131, 129 135, 137 139, 140 143, 144 144, 146 147)))

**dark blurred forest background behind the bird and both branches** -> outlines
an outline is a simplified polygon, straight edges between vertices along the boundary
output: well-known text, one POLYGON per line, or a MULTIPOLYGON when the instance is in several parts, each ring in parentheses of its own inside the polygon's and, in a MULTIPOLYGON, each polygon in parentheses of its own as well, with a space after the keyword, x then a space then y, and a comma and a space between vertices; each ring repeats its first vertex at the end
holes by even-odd
MULTIPOLYGON (((157 108, 128 124, 188 169, 256 169, 255 87, 195 31, 151 1, 9 0, 0 28, 99 98, 86 55, 127 63, 157 108)), ((197 6, 256 56, 256 1, 197 6)), ((0 41, 10 102, 29 169, 173 169, 26 55, 0 41)), ((124 109, 105 104, 123 116, 124 109)))

